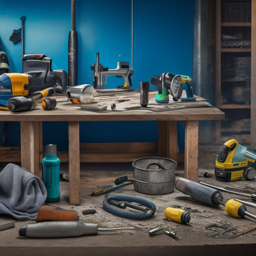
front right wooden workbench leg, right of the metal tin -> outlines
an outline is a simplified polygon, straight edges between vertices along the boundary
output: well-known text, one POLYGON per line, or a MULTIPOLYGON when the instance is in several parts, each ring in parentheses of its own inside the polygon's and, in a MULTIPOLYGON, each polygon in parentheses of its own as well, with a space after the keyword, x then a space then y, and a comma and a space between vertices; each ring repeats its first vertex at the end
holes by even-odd
POLYGON ((184 178, 198 182, 198 121, 185 121, 184 178))

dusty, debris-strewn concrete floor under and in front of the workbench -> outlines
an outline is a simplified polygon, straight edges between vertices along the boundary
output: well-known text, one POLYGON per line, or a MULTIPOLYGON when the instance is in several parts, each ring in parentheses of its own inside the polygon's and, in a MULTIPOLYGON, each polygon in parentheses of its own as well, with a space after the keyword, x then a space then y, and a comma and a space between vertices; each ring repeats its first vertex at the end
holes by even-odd
MULTIPOLYGON (((200 159, 200 158, 199 158, 200 159)), ((219 182, 214 176, 214 159, 207 163, 199 162, 199 181, 226 189, 254 194, 256 180, 237 182, 219 182), (208 172, 210 177, 204 177, 208 172)), ((67 164, 61 163, 61 172, 67 173, 67 164)), ((135 227, 136 230, 119 230, 115 232, 98 232, 72 238, 25 238, 19 236, 19 228, 35 221, 19 221, 15 227, 0 231, 1 255, 254 255, 256 230, 231 238, 256 227, 256 222, 249 217, 233 218, 227 215, 223 206, 208 206, 196 202, 189 196, 174 189, 166 195, 145 195, 136 192, 133 185, 115 190, 115 193, 146 198, 156 205, 154 216, 147 220, 129 220, 106 212, 102 207, 104 195, 93 197, 90 194, 99 187, 114 184, 117 177, 128 175, 132 178, 131 163, 81 163, 81 204, 69 205, 69 183, 60 180, 61 199, 51 203, 64 209, 76 210, 79 220, 97 223, 101 228, 135 227), (187 224, 167 220, 164 210, 167 207, 182 208, 191 214, 187 224), (95 209, 96 213, 83 215, 82 211, 95 209), (213 227, 208 227, 215 225, 213 227), (224 226, 223 226, 224 225, 224 226), (223 226, 222 228, 220 226, 223 226), (166 234, 149 236, 153 228, 161 227, 177 233, 176 238, 166 234), (234 230, 222 233, 234 228, 234 230)), ((184 177, 184 166, 178 163, 176 179, 184 177)), ((221 192, 224 199, 237 198, 251 202, 250 198, 221 192)), ((255 208, 246 207, 256 214, 255 208)))

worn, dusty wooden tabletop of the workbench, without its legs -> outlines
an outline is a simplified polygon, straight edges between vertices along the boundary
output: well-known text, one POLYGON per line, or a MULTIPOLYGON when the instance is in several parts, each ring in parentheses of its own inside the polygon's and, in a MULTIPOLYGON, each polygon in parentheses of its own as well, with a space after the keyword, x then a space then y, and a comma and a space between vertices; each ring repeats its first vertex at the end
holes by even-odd
POLYGON ((57 98, 57 106, 52 110, 43 110, 37 106, 29 111, 0 110, 0 121, 161 121, 161 120, 222 120, 224 113, 211 106, 204 99, 196 101, 178 101, 159 104, 155 101, 157 92, 149 93, 146 108, 140 105, 140 93, 137 91, 116 93, 94 97, 90 105, 107 106, 105 111, 82 110, 81 105, 72 104, 66 97, 57 98), (111 104, 116 108, 111 110, 111 104))

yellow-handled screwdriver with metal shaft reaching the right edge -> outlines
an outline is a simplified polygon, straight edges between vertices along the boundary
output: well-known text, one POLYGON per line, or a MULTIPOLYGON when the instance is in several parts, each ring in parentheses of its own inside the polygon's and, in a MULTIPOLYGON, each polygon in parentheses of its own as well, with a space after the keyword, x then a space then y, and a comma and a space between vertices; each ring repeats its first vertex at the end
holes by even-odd
POLYGON ((228 215, 235 218, 242 218, 247 215, 253 219, 256 219, 255 215, 247 212, 246 207, 242 203, 234 199, 230 199, 227 201, 227 203, 225 204, 225 210, 228 215))

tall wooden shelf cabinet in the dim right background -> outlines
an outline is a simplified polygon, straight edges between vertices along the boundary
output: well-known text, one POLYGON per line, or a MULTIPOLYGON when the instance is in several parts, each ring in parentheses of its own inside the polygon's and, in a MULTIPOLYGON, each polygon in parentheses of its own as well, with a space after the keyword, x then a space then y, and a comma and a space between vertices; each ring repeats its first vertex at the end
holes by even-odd
POLYGON ((251 93, 255 91, 255 10, 256 0, 216 0, 215 99, 216 106, 225 113, 225 120, 216 122, 217 141, 225 142, 227 131, 234 132, 239 143, 256 139, 252 136, 255 97, 251 93), (244 120, 248 120, 246 137, 236 134, 242 131, 238 123, 244 120))

